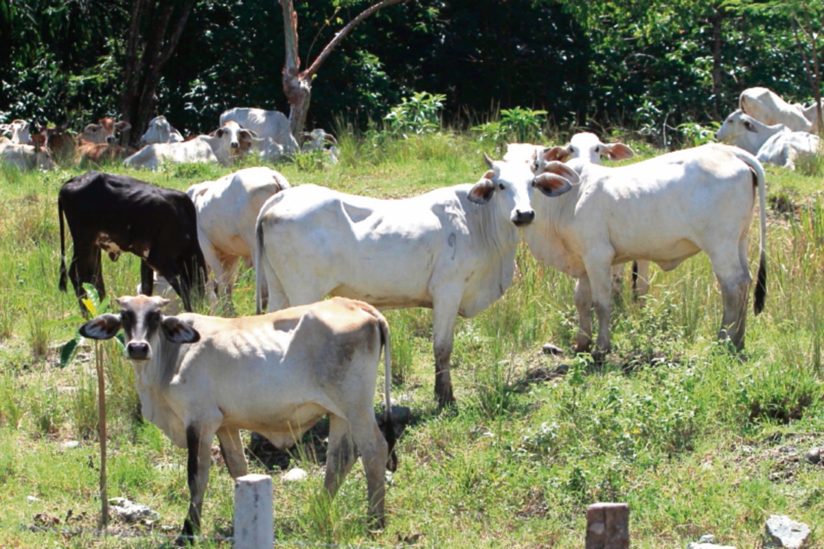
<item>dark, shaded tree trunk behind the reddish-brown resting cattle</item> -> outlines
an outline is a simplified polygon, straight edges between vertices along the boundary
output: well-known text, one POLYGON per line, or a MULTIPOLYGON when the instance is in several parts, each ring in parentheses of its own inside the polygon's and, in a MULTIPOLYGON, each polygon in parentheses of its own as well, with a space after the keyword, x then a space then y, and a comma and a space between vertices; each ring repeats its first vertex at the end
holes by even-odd
POLYGON ((134 0, 120 100, 123 120, 132 124, 124 133, 124 145, 135 141, 132 135, 143 134, 157 111, 156 92, 163 67, 177 48, 195 1, 134 0), (141 21, 147 21, 146 36, 141 21), (139 54, 141 49, 143 54, 139 54))

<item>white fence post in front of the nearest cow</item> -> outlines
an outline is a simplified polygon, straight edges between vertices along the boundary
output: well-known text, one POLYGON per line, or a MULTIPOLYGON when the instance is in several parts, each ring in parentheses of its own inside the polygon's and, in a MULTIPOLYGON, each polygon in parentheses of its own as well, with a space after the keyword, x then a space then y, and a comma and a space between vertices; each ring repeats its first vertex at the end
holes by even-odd
POLYGON ((235 479, 235 549, 272 549, 272 477, 246 475, 235 479))

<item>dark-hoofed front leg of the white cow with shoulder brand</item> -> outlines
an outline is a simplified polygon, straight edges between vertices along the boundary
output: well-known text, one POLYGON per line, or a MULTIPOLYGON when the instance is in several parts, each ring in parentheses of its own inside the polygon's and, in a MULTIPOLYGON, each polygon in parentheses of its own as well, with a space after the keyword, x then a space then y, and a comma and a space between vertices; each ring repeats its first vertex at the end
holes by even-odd
POLYGON ((455 317, 461 307, 462 289, 444 288, 433 297, 433 340, 435 352, 435 398, 438 406, 455 402, 449 359, 455 339, 455 317))

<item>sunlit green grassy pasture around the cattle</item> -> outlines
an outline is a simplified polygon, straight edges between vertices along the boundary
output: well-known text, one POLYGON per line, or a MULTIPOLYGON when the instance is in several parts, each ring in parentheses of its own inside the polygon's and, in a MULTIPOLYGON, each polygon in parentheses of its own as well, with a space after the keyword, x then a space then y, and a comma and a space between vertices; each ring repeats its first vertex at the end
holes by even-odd
MULTIPOLYGON (((658 153, 633 145, 640 158, 658 153)), ((461 134, 381 147, 343 138, 340 148, 335 167, 300 157, 276 169, 293 185, 379 197, 474 182, 485 171, 480 143, 461 134)), ((179 165, 133 175, 185 190, 233 169, 179 165)), ((54 519, 58 528, 93 529, 100 509, 92 347, 60 368, 59 345, 77 323, 52 322, 77 314, 73 294, 57 287, 56 197, 80 172, 0 171, 0 547, 161 544, 21 529, 54 519), (68 440, 80 447, 63 448, 68 440)), ((307 435, 293 451, 293 465, 309 480, 283 484, 280 471, 272 472, 275 538, 364 547, 583 547, 588 504, 624 501, 633 547, 686 547, 704 533, 739 549, 761 547, 770 514, 808 523, 810 547, 824 547, 824 466, 803 458, 824 446, 822 173, 770 167, 767 175, 767 302, 760 317, 750 308, 743 354, 715 340, 721 298, 709 260, 699 255, 670 273, 653 266, 645 307, 633 303, 625 284, 613 317, 614 350, 593 367, 572 351, 574 280, 537 264, 522 246, 504 298, 457 323, 455 408, 438 412, 433 401, 431 312, 386 315, 392 397, 411 411, 387 489, 386 530, 368 531, 359 463, 338 497, 325 500, 321 426, 314 441, 307 435), (565 354, 545 356, 546 342, 565 354), (569 367, 566 375, 550 375, 560 364, 569 367)), ((756 217, 753 275, 757 235, 756 217)), ((137 258, 104 262, 110 294, 133 293, 137 258)), ((234 291, 238 313, 254 312, 254 293, 247 270, 234 291)), ((114 345, 105 350, 109 495, 162 514, 150 526, 113 527, 171 527, 176 534, 188 502, 185 453, 140 420, 131 365, 114 345)), ((251 462, 250 472, 265 468, 251 462)), ((232 486, 226 468, 213 467, 205 536, 231 535, 232 486)))

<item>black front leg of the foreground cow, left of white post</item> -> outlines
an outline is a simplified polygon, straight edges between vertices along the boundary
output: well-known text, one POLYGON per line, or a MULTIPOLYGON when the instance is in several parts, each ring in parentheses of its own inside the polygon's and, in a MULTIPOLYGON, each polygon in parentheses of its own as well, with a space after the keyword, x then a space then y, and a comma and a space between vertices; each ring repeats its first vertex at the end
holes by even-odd
POLYGON ((212 440, 216 430, 205 422, 190 423, 186 426, 186 448, 189 451, 186 475, 189 480, 190 501, 189 514, 183 522, 184 537, 194 536, 200 531, 208 469, 212 465, 212 440))

